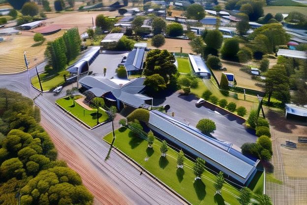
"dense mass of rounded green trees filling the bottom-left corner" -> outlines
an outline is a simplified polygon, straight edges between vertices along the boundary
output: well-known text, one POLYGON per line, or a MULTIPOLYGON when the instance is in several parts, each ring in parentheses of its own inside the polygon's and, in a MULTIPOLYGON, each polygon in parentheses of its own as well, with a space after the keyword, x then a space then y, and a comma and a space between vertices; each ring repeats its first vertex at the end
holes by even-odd
POLYGON ((92 204, 78 173, 57 160, 31 99, 0 89, 0 204, 92 204))

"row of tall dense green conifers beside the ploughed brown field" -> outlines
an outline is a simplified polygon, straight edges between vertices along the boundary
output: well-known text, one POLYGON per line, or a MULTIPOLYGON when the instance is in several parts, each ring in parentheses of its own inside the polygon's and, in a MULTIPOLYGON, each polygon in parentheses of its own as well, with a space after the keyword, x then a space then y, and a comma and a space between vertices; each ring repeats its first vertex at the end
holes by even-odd
POLYGON ((47 43, 45 50, 46 68, 54 72, 63 70, 80 53, 81 39, 78 28, 67 30, 63 36, 47 43))

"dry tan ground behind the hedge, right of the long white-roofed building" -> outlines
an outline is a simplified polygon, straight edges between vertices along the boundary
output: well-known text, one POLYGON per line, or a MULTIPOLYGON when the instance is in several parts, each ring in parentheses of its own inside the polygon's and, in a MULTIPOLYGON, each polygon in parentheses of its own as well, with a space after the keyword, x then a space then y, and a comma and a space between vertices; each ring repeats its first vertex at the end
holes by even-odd
MULTIPOLYGON (((227 68, 227 71, 224 71, 224 72, 234 73, 236 81, 237 81, 237 86, 262 91, 262 88, 256 85, 257 81, 251 79, 250 74, 240 70, 240 68, 243 67, 240 64, 229 62, 229 61, 222 61, 222 65, 223 65, 223 68, 224 67, 227 68)), ((220 82, 223 71, 213 70, 213 72, 218 82, 220 82)))

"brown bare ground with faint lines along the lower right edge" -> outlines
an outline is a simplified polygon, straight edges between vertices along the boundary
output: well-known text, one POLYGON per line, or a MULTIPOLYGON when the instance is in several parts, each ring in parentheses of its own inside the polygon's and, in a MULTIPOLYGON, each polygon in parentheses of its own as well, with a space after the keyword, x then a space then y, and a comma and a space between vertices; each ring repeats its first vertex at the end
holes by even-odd
POLYGON ((298 137, 307 137, 307 123, 286 119, 284 113, 272 109, 267 117, 273 147, 272 166, 267 171, 274 171, 274 177, 282 181, 267 180, 267 194, 276 205, 306 205, 307 144, 299 143, 298 137), (285 141, 297 143, 297 148, 286 148, 285 141))

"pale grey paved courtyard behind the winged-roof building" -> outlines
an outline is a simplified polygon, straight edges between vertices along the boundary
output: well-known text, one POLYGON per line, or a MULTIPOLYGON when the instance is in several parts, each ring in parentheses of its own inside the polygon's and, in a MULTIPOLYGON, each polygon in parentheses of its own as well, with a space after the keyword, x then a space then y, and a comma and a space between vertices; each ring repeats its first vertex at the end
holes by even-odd
POLYGON ((107 68, 106 78, 111 79, 115 74, 117 66, 121 63, 123 56, 127 56, 127 53, 99 54, 90 66, 90 71, 93 73, 103 73, 103 68, 107 68))

